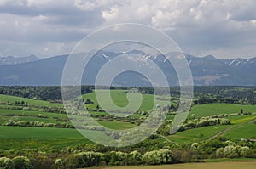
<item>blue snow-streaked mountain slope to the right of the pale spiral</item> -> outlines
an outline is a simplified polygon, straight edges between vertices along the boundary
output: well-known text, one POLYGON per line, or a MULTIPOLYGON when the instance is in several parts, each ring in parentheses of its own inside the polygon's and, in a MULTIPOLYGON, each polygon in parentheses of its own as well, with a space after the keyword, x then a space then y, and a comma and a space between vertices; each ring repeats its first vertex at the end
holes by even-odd
POLYGON ((256 63, 252 59, 215 59, 212 56, 196 58, 187 55, 194 82, 198 85, 242 85, 255 86, 256 63), (245 60, 248 60, 247 62, 245 60), (232 65, 233 63, 239 63, 232 65), (231 63, 231 64, 230 64, 231 63), (248 64, 250 63, 250 64, 248 64))

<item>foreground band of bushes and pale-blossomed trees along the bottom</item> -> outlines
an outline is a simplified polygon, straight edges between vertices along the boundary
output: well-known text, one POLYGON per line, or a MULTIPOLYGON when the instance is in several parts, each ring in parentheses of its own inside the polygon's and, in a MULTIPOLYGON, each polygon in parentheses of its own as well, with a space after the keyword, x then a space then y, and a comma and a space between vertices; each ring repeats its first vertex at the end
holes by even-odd
POLYGON ((202 143, 177 145, 146 140, 143 143, 116 150, 98 144, 81 145, 66 150, 55 149, 48 153, 38 150, 20 153, 12 150, 9 155, 3 155, 0 158, 0 168, 73 169, 90 166, 161 165, 240 157, 256 157, 256 149, 250 141, 233 142, 225 138, 217 138, 202 143), (23 155, 20 156, 20 154, 23 155))

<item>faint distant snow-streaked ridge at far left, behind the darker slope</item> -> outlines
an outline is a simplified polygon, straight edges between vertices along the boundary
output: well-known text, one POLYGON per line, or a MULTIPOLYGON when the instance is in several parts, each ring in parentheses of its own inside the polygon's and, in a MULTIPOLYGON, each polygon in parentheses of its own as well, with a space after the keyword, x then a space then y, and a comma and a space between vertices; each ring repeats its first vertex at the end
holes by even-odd
POLYGON ((19 58, 14 56, 0 57, 0 65, 16 65, 16 64, 34 62, 34 61, 38 61, 38 58, 35 55, 19 57, 19 58))

